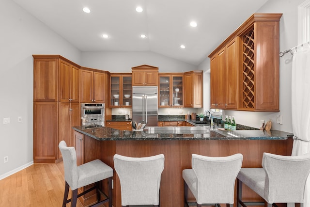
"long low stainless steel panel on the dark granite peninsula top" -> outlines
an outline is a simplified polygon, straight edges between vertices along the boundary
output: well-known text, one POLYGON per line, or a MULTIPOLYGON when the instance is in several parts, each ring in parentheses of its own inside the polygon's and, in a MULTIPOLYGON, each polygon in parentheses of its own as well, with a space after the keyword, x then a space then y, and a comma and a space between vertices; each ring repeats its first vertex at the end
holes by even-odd
POLYGON ((149 134, 210 133, 210 127, 147 127, 149 134))

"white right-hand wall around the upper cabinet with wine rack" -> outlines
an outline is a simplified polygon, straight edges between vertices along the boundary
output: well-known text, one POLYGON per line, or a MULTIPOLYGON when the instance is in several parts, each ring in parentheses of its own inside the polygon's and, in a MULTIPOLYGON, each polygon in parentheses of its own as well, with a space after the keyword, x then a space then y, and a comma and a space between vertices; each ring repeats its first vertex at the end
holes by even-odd
MULTIPOLYGON (((297 45, 297 6, 304 0, 269 0, 256 13, 283 13, 280 19, 280 51, 297 45)), ((242 23, 242 22, 241 22, 242 23)), ((241 24, 240 23, 240 24, 241 24)), ((272 129, 293 132, 291 110, 291 71, 293 56, 288 53, 280 57, 280 90, 279 112, 248 112, 248 111, 223 111, 224 115, 235 116, 238 124, 251 127, 260 127, 260 120, 265 123, 272 121, 272 129), (283 125, 276 124, 276 117, 283 116, 283 125)), ((210 65, 209 58, 202 64, 210 65)), ((209 66, 210 67, 210 66, 209 66)))

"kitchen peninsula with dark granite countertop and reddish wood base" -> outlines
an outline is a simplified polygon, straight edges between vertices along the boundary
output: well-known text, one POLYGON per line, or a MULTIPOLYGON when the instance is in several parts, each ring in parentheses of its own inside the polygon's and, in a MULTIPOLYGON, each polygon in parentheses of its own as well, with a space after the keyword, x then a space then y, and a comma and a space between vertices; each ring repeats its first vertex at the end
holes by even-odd
MULTIPOLYGON (((241 153, 242 167, 261 167, 263 152, 290 155, 292 135, 272 130, 221 131, 209 128, 205 133, 149 133, 109 127, 73 127, 79 163, 101 159, 113 167, 114 154, 147 157, 163 153, 165 168, 160 186, 160 206, 183 206, 182 170, 191 168, 191 154, 228 156, 241 153)), ((119 178, 113 176, 113 206, 121 206, 119 178)), ((103 189, 105 191, 105 189, 103 189)), ((235 195, 236 197, 236 195, 235 195)), ((254 192, 244 188, 243 197, 259 201, 254 192)))

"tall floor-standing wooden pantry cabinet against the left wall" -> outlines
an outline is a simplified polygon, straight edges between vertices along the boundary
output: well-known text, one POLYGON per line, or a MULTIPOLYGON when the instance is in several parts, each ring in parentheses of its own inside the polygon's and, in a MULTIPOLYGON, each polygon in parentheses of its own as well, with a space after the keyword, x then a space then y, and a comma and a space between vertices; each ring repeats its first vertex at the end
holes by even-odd
POLYGON ((74 145, 71 127, 80 122, 80 66, 60 55, 32 56, 33 162, 55 163, 61 158, 58 143, 74 145))

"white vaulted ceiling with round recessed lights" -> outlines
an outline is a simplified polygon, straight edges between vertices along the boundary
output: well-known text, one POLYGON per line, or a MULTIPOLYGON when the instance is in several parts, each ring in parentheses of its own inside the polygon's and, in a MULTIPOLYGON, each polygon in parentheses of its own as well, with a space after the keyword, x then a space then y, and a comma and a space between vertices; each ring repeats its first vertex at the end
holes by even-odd
POLYGON ((198 65, 267 0, 14 1, 81 51, 153 51, 198 65))

